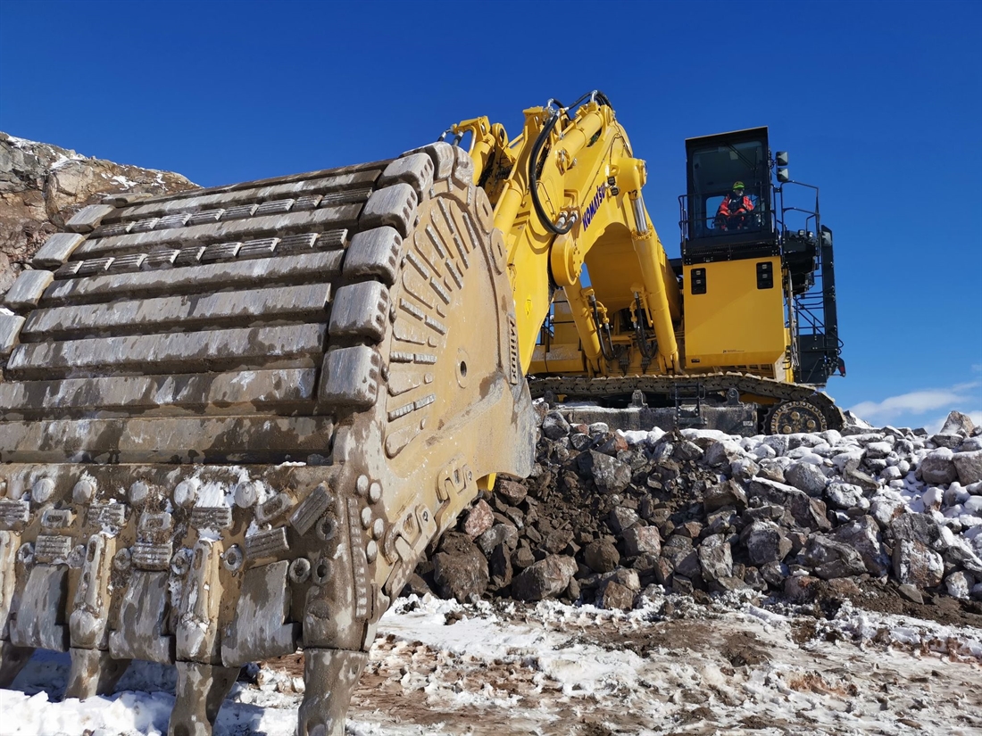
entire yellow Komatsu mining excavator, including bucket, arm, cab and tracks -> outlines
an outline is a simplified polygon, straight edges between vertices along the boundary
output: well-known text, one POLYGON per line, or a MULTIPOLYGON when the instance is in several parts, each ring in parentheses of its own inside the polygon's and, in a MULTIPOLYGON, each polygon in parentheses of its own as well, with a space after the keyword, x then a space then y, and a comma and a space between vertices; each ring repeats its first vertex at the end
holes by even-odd
POLYGON ((842 422, 815 391, 831 232, 785 226, 766 129, 688 141, 675 264, 603 94, 451 134, 469 153, 109 196, 37 251, 0 311, 0 686, 36 649, 69 653, 70 698, 173 663, 169 733, 210 734, 246 662, 300 647, 299 734, 342 734, 427 545, 530 472, 529 386, 674 426, 842 422), (755 206, 724 231, 736 179, 755 206))

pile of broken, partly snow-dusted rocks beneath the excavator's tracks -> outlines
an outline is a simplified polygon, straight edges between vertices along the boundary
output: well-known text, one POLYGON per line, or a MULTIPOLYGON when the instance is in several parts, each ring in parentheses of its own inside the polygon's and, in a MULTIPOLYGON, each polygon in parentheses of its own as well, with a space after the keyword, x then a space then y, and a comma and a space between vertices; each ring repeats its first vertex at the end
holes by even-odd
POLYGON ((982 600, 982 427, 851 426, 738 438, 612 433, 539 404, 537 462, 499 479, 409 589, 462 601, 629 608, 645 586, 809 600, 819 581, 892 581, 982 600))

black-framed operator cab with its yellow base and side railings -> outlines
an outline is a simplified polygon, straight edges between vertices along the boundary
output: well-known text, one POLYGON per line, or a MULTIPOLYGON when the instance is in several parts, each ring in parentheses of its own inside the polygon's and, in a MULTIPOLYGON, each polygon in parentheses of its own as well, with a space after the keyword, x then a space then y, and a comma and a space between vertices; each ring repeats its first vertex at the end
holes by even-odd
POLYGON ((824 386, 841 342, 818 188, 791 181, 767 128, 688 138, 685 156, 686 370, 824 386))

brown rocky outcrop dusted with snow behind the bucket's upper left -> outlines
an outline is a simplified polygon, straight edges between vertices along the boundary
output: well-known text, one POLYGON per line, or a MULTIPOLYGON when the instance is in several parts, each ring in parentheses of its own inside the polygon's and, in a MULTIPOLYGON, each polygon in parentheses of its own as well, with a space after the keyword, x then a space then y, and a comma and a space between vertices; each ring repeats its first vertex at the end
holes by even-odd
POLYGON ((105 194, 166 194, 195 188, 180 174, 86 158, 0 132, 0 293, 44 242, 105 194))

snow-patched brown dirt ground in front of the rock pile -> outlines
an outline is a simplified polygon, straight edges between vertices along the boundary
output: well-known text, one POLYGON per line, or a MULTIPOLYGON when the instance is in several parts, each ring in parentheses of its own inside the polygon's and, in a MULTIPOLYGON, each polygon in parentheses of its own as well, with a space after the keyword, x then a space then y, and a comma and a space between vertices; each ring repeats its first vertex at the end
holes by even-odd
MULTIPOLYGON (((812 606, 818 615, 799 607, 775 620, 669 601, 657 614, 632 618, 575 609, 556 618, 530 606, 499 606, 488 616, 462 606, 441 622, 481 626, 484 618, 484 628, 502 627, 506 640, 508 627, 537 628, 551 658, 507 642, 496 657, 486 647, 468 655, 432 632, 415 640, 411 626, 385 632, 383 625, 352 701, 350 717, 362 725, 350 732, 982 733, 982 652, 955 641, 982 639, 973 606, 908 604, 887 588, 862 600, 865 611, 826 596, 812 606), (922 620, 882 615, 918 612, 922 620), (872 636, 850 631, 849 621, 867 618, 872 636), (894 628, 920 631, 921 639, 898 641, 894 628), (596 676, 594 665, 609 671, 596 676), (579 685, 571 667, 584 673, 579 685)), ((260 680, 263 672, 300 677, 302 655, 264 662, 259 672, 260 680)))

